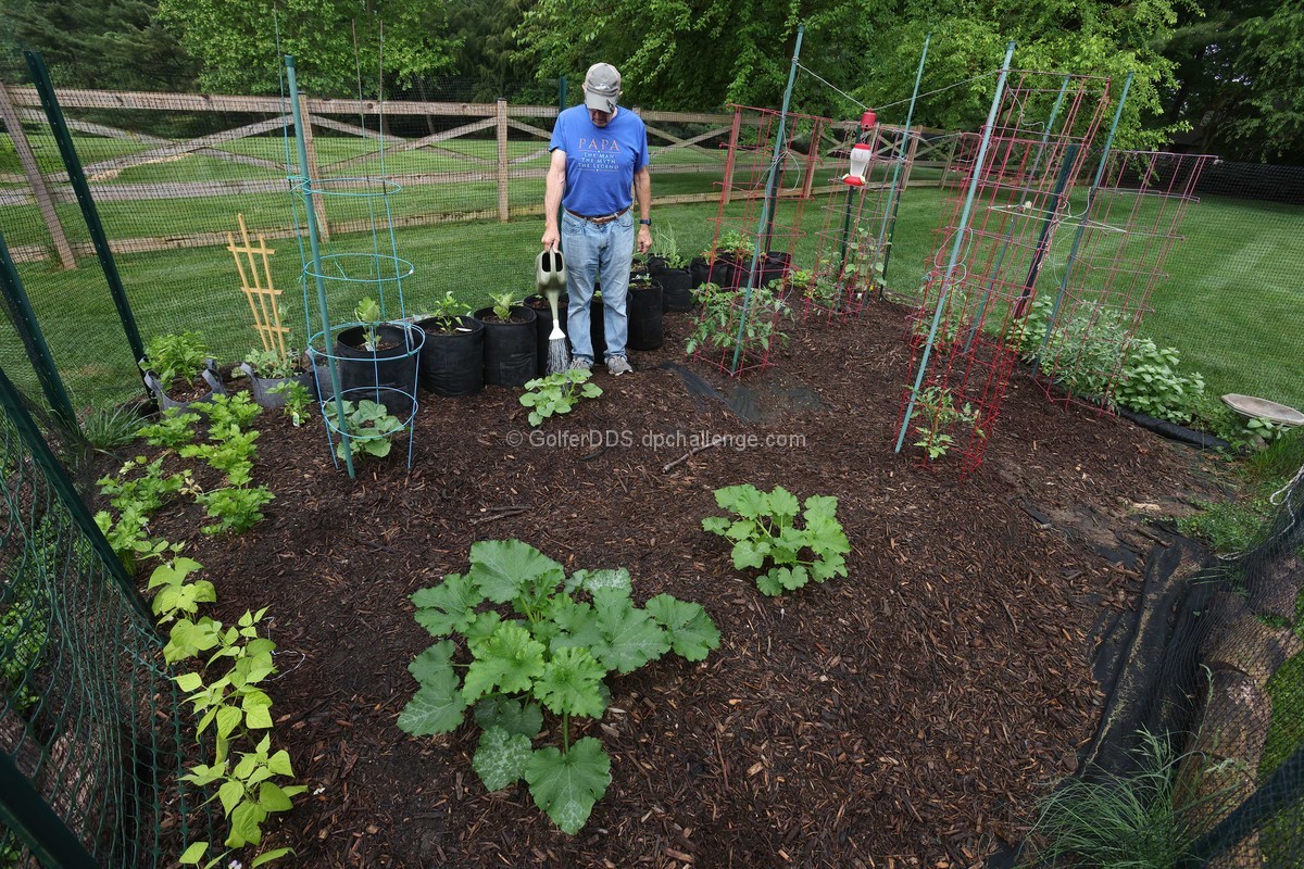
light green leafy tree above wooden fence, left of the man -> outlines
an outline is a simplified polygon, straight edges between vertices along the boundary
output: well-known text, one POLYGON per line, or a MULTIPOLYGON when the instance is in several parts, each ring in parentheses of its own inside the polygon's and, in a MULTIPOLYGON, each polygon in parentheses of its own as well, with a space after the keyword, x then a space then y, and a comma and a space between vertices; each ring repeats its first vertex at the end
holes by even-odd
POLYGON ((280 93, 280 56, 293 55, 305 93, 374 96, 382 76, 390 86, 447 69, 445 16, 422 0, 159 0, 202 63, 200 85, 226 94, 280 93))

